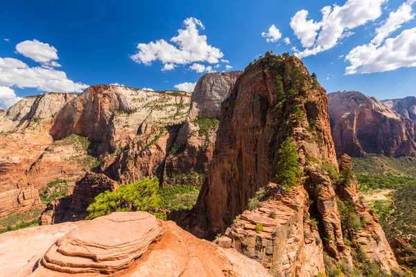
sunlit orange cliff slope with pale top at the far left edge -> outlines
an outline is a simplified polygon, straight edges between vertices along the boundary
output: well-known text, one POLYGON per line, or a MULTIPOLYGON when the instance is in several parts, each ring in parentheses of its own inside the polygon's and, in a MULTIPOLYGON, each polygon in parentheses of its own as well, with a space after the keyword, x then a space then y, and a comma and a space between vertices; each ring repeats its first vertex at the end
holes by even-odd
MULTIPOLYGON (((40 184, 27 178, 31 166, 51 143, 55 114, 76 98, 71 93, 45 93, 23 98, 0 117, 0 217, 40 206, 40 184)), ((63 175, 62 175, 63 176, 63 175)), ((47 184, 47 182, 45 183, 47 184)))

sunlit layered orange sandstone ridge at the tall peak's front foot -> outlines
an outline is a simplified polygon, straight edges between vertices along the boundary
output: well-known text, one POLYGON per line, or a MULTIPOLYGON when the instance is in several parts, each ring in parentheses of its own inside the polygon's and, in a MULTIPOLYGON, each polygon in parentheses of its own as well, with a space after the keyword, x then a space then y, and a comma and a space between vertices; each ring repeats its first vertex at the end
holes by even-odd
POLYGON ((215 242, 258 260, 277 276, 324 274, 322 240, 311 226, 308 198, 298 187, 283 199, 261 202, 261 208, 244 211, 227 236, 215 242), (262 231, 256 230, 259 224, 262 231), (224 245, 227 240, 229 245, 224 245))

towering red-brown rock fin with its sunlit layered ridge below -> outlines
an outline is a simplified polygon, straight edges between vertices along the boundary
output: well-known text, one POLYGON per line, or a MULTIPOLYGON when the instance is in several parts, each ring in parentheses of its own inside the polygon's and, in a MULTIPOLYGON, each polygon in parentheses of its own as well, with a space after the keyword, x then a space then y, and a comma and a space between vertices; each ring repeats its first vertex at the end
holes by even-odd
MULTIPOLYGON (((236 81, 232 93, 221 107, 214 157, 198 202, 180 222, 200 237, 212 238, 216 233, 229 233, 226 232, 227 227, 232 226, 233 220, 246 210, 249 199, 270 181, 281 180, 279 176, 287 173, 284 173, 286 169, 277 168, 277 165, 281 164, 283 157, 279 150, 284 142, 291 140, 295 144, 304 177, 293 185, 291 196, 281 200, 290 209, 269 203, 263 204, 263 211, 259 209, 260 215, 254 215, 256 220, 250 220, 250 213, 241 215, 241 220, 249 222, 244 228, 257 231, 257 225, 262 223, 261 213, 275 208, 279 221, 268 221, 270 226, 267 227, 269 232, 273 229, 278 233, 282 231, 281 236, 277 235, 272 240, 286 243, 288 248, 268 249, 270 242, 266 234, 265 241, 259 241, 254 236, 248 240, 256 240, 256 250, 259 249, 257 242, 265 246, 266 254, 272 256, 268 267, 274 274, 303 274, 306 268, 311 276, 322 272, 322 244, 330 256, 353 267, 356 261, 351 247, 344 242, 345 227, 341 224, 337 206, 337 198, 343 196, 337 197, 334 188, 338 188, 338 182, 331 179, 329 172, 322 170, 325 165, 338 172, 329 127, 327 93, 296 57, 266 53, 266 57, 248 66, 236 81), (304 189, 307 193, 301 197, 304 189), (310 239, 314 235, 302 232, 313 230, 309 221, 312 215, 318 222, 320 238, 324 238, 320 247, 316 240, 311 244, 310 239), (289 218, 290 224, 285 223, 285 217, 286 220, 289 218), (278 258, 275 250, 286 253, 291 257, 290 261, 278 258), (306 259, 313 256, 321 258, 306 259)), ((375 226, 374 229, 383 232, 379 225, 375 226)), ((245 235, 245 232, 244 229, 236 229, 236 233, 245 235)), ((361 247, 361 242, 352 247, 361 247)), ((388 244, 384 247, 385 251, 391 251, 388 244)), ((242 253, 250 251, 245 246, 236 249, 242 253)), ((256 255, 254 251, 248 256, 267 258, 267 255, 256 255)), ((373 256, 368 258, 369 261, 371 258, 373 256)), ((398 267, 394 256, 387 259, 383 270, 390 272, 398 267)))

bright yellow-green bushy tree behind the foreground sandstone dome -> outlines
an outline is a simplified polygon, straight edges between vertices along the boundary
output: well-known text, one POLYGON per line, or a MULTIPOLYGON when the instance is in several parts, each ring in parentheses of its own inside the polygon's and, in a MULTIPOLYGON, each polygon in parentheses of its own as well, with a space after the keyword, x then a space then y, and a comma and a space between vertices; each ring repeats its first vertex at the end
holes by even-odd
POLYGON ((134 184, 122 184, 115 191, 105 191, 94 199, 89 205, 87 219, 108 215, 115 211, 149 211, 159 209, 161 198, 157 194, 159 180, 144 179, 134 184))

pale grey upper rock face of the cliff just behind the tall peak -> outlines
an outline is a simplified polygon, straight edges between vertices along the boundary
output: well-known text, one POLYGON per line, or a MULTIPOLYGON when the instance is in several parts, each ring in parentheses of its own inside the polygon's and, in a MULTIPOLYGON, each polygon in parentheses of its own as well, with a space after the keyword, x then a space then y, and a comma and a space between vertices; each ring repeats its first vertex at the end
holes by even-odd
POLYGON ((193 90, 189 117, 220 119, 221 103, 232 91, 241 73, 243 71, 203 75, 193 90))

